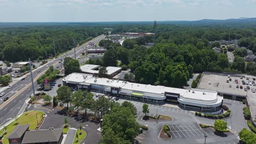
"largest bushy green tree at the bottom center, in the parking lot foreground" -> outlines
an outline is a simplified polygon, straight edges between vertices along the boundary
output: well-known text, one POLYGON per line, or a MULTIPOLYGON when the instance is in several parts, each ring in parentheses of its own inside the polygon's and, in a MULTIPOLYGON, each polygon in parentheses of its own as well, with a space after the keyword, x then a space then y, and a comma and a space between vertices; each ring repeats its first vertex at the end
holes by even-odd
POLYGON ((135 116, 131 110, 123 106, 114 106, 110 113, 103 117, 102 122, 102 141, 113 142, 109 140, 109 133, 114 136, 114 140, 118 142, 133 142, 139 132, 139 124, 136 122, 135 116))

